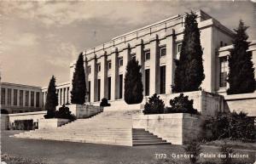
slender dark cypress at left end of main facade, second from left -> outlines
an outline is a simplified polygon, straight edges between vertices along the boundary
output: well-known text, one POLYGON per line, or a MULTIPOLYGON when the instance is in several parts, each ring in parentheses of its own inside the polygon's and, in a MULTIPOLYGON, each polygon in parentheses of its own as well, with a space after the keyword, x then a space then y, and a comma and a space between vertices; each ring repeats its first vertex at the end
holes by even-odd
POLYGON ((71 103, 83 105, 85 102, 85 72, 84 72, 84 59, 83 54, 79 54, 79 59, 76 63, 75 70, 73 73, 72 80, 72 91, 71 91, 71 103))

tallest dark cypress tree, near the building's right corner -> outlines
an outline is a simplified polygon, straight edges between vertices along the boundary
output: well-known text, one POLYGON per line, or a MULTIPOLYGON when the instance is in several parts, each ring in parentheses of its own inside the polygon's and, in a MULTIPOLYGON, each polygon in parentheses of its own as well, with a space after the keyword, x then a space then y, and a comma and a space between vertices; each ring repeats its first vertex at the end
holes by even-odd
POLYGON ((172 90, 176 93, 199 90, 201 82, 205 79, 200 31, 196 18, 197 15, 192 11, 186 14, 180 58, 175 59, 177 67, 172 90))

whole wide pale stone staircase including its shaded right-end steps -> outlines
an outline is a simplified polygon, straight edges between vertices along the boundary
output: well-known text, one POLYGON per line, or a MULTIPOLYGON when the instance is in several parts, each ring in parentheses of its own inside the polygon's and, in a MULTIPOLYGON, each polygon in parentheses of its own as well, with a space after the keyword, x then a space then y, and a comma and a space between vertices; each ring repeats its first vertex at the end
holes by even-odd
POLYGON ((15 134, 13 137, 127 146, 167 144, 166 140, 144 129, 132 129, 132 115, 138 112, 138 110, 104 111, 61 127, 36 129, 15 134))

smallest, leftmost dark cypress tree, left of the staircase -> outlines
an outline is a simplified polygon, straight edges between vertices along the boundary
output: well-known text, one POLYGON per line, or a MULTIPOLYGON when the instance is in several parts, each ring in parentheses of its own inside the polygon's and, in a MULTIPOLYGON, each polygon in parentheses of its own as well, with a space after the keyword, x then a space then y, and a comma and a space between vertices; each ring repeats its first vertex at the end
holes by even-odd
POLYGON ((44 109, 47 110, 47 114, 44 117, 54 118, 57 105, 58 105, 58 95, 56 93, 55 76, 52 76, 49 81, 47 97, 46 97, 46 102, 44 106, 44 109))

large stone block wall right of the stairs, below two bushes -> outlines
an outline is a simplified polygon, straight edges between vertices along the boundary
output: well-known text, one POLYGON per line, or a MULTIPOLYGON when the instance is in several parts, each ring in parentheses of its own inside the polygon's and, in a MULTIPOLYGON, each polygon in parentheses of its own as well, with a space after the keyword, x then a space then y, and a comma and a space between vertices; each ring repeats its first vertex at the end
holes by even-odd
POLYGON ((187 113, 137 115, 132 122, 133 128, 144 128, 172 144, 184 144, 201 132, 200 116, 187 113))

